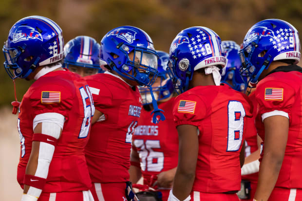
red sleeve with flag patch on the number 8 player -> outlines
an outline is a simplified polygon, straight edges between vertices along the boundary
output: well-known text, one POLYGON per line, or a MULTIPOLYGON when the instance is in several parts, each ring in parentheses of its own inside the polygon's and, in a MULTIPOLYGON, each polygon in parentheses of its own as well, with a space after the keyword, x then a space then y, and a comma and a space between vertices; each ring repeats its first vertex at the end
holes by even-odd
POLYGON ((197 95, 179 95, 173 104, 173 119, 176 127, 179 125, 192 125, 198 127, 200 121, 206 116, 206 104, 197 95))

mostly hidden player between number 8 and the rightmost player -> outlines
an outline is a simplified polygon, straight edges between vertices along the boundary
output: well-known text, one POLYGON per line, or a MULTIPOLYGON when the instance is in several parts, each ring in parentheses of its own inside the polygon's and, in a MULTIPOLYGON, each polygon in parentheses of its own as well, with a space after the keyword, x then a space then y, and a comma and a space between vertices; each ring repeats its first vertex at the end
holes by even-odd
MULTIPOLYGON (((240 46, 231 40, 222 41, 222 46, 227 57, 227 65, 223 69, 221 82, 230 85, 234 90, 245 92, 246 77, 240 76, 241 61, 238 55, 240 46), (245 81, 243 80, 245 79, 245 81)), ((255 88, 253 88, 255 89, 255 88)), ((249 91, 249 88, 248 90, 249 91)), ((248 92, 246 93, 248 95, 248 92)), ((256 192, 261 138, 257 135, 255 127, 255 113, 257 112, 257 101, 255 94, 249 94, 249 99, 253 103, 253 118, 248 119, 245 125, 248 127, 245 133, 245 164, 241 168, 241 190, 237 193, 240 199, 252 201, 256 192)))

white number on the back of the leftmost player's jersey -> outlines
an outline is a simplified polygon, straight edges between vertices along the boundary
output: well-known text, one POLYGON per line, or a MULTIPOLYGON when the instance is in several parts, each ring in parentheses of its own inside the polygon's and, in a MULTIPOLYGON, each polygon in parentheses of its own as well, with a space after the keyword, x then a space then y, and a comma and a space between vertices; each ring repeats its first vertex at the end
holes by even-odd
POLYGON ((78 138, 86 138, 90 129, 91 117, 94 115, 94 101, 88 85, 85 86, 85 89, 84 87, 81 87, 79 90, 83 101, 84 118, 78 138), (87 99, 89 100, 88 103, 86 102, 87 99))

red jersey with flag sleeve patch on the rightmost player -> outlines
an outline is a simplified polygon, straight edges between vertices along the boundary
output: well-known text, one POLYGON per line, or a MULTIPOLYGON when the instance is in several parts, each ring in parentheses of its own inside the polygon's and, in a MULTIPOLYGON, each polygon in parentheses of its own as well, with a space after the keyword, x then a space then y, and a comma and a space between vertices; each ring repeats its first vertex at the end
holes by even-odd
MULTIPOLYGON (((291 66, 286 66, 290 68, 291 66)), ((264 141, 262 117, 288 115, 289 129, 285 155, 276 187, 302 188, 302 73, 275 72, 259 82, 256 98, 258 134, 264 141), (270 112, 270 113, 269 113, 270 112)), ((277 148, 277 147, 276 147, 277 148)))

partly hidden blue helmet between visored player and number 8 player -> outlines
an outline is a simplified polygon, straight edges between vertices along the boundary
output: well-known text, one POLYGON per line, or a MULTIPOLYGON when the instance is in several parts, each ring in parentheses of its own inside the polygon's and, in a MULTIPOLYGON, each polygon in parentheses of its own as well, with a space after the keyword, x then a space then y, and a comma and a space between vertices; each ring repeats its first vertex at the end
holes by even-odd
MULTIPOLYGON (((169 54, 163 51, 156 51, 158 54, 158 76, 157 79, 160 79, 160 85, 158 87, 154 87, 154 84, 157 83, 157 80, 152 85, 152 91, 154 94, 154 98, 156 101, 160 101, 166 99, 171 96, 174 91, 172 81, 167 72, 167 64, 169 61, 169 54)), ((152 102, 150 90, 146 87, 140 88, 139 92, 143 99, 143 105, 148 105, 152 102)))

